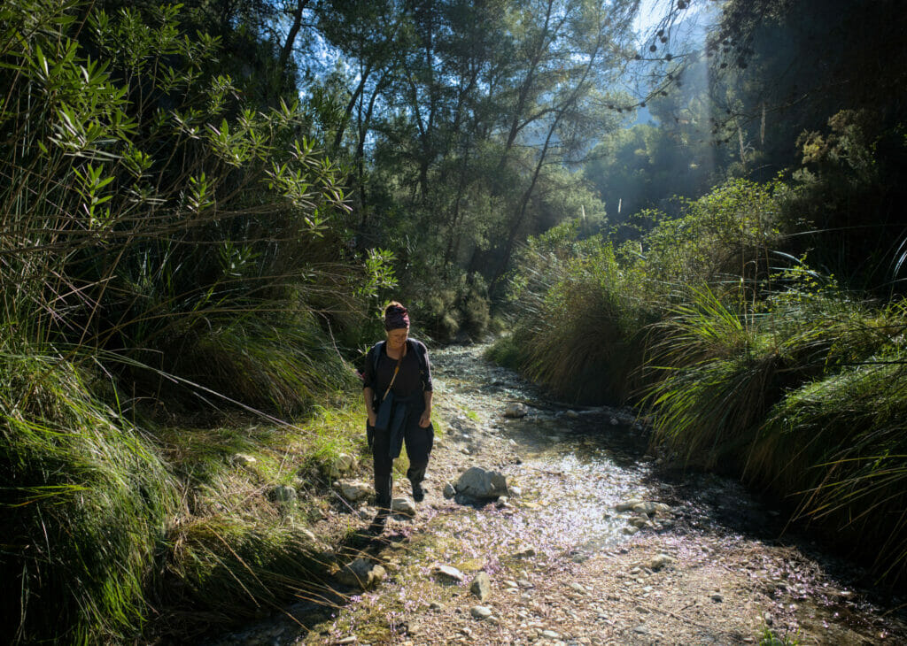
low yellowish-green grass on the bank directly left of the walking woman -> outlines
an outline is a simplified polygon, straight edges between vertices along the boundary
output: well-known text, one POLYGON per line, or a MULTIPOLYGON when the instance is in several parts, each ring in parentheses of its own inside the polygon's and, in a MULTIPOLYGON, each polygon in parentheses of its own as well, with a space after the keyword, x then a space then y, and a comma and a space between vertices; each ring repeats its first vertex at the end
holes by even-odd
MULTIPOLYGON (((216 429, 160 429, 183 479, 187 514, 171 526, 152 632, 185 636, 303 598, 333 603, 318 522, 346 512, 331 469, 365 448, 362 403, 337 392, 293 425, 234 420, 216 429)), ((350 527, 345 513, 332 532, 350 527)))

